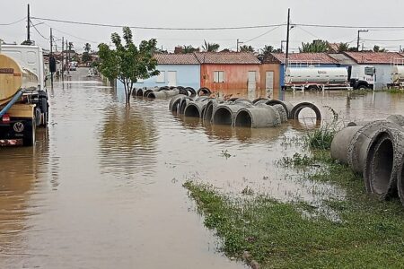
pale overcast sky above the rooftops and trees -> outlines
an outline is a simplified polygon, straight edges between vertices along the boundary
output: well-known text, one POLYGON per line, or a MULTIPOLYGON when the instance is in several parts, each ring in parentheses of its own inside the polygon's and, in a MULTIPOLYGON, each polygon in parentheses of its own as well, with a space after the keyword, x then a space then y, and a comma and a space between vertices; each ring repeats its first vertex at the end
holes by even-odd
MULTIPOLYGON (((209 28, 271 25, 287 21, 287 8, 291 8, 292 23, 352 25, 352 26, 402 26, 400 30, 369 30, 361 34, 364 48, 374 44, 389 50, 404 48, 404 1, 359 1, 359 0, 69 0, 31 2, 7 1, 0 9, 0 39, 21 43, 26 39, 26 22, 16 22, 26 16, 27 4, 31 4, 31 16, 75 22, 96 22, 106 24, 171 27, 209 28), (63 4, 62 4, 63 3, 63 4), (366 40, 369 39, 369 40, 366 40), (373 41, 376 40, 376 41, 373 41), (394 41, 389 41, 394 40, 394 41)), ((100 42, 110 42, 110 33, 121 32, 119 28, 74 25, 61 22, 32 20, 40 33, 48 38, 49 27, 54 29, 57 39, 64 36, 73 41, 75 48, 83 48, 88 41, 95 48, 100 42)), ((291 48, 296 50, 302 42, 312 39, 327 39, 330 42, 351 42, 356 47, 358 29, 327 29, 297 26, 291 30, 291 48)), ((219 43, 221 48, 236 48, 236 39, 247 41, 254 48, 264 45, 280 47, 285 39, 286 27, 248 30, 134 30, 136 41, 156 38, 159 47, 172 51, 176 45, 200 47, 204 39, 219 43), (263 35, 264 33, 267 33, 263 35), (261 37, 259 37, 262 35, 261 37), (258 39, 255 39, 259 37, 258 39)), ((48 40, 31 30, 31 39, 44 48, 48 40)), ((362 43, 361 42, 361 43, 362 43)), ((60 46, 61 41, 57 41, 60 46)), ((79 49, 79 50, 80 50, 79 49)))

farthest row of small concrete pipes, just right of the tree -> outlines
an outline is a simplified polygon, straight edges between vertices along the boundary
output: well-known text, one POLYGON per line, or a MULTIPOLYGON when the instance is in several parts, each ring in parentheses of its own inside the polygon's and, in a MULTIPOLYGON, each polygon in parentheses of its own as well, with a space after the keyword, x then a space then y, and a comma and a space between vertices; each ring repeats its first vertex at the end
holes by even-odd
POLYGON ((133 91, 133 95, 136 98, 147 98, 147 99, 169 99, 176 95, 185 95, 189 97, 196 97, 200 95, 210 95, 211 91, 207 88, 200 88, 198 91, 195 91, 192 87, 155 87, 155 88, 142 88, 142 89, 135 89, 133 91))

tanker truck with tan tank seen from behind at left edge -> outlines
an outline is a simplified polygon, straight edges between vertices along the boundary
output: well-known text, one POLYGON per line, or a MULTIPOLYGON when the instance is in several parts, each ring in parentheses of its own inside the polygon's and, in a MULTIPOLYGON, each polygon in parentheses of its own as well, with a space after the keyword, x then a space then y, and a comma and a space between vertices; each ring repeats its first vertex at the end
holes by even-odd
POLYGON ((0 146, 32 146, 36 128, 47 125, 42 49, 0 44, 0 146))

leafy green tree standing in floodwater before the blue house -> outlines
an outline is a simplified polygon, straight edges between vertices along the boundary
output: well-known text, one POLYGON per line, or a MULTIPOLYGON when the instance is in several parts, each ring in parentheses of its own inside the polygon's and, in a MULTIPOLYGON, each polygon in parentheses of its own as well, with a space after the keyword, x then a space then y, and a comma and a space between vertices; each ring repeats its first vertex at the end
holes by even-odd
POLYGON ((148 79, 160 74, 155 70, 157 60, 154 58, 154 52, 157 50, 157 41, 143 40, 137 48, 133 42, 132 31, 128 27, 123 28, 122 38, 125 40, 124 45, 119 34, 114 32, 110 39, 115 49, 110 49, 104 43, 98 46, 100 56, 98 70, 110 81, 118 79, 124 84, 126 102, 129 105, 134 83, 138 79, 148 79))

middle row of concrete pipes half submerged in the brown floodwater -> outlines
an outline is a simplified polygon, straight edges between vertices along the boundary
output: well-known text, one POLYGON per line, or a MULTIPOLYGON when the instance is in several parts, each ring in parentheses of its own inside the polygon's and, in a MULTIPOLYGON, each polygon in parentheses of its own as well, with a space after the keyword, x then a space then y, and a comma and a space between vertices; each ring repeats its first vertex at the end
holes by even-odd
POLYGON ((281 100, 233 98, 224 101, 179 95, 171 99, 169 108, 178 115, 200 117, 205 123, 225 126, 275 127, 288 119, 298 118, 303 108, 312 108, 317 120, 321 120, 320 109, 308 102, 294 106, 281 100))

